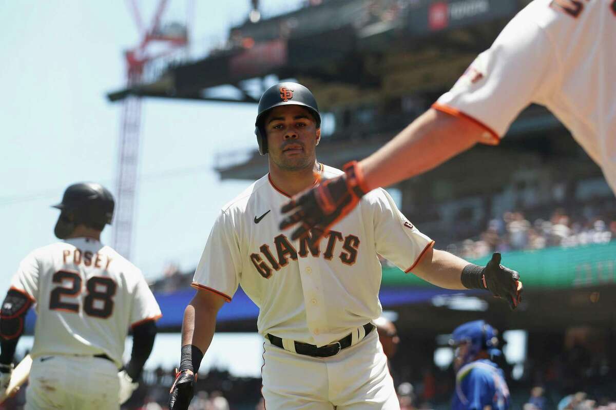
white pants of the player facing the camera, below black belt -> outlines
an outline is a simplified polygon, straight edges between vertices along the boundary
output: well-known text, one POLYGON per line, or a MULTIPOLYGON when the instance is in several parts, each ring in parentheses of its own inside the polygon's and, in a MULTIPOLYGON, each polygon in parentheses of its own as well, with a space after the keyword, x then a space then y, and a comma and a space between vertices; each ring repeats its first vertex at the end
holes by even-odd
POLYGON ((400 410, 376 330, 331 357, 310 357, 265 341, 267 410, 400 410))

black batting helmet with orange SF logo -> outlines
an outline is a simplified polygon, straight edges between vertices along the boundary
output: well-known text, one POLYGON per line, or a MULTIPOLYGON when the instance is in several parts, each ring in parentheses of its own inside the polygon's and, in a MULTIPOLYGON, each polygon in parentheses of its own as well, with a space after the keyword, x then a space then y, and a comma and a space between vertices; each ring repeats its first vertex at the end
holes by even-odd
POLYGON ((281 105, 301 105, 310 111, 317 123, 317 128, 321 127, 321 116, 318 113, 317 100, 309 89, 296 82, 279 82, 265 90, 259 100, 259 114, 254 122, 254 134, 259 143, 259 154, 267 154, 267 135, 263 121, 267 113, 281 105))

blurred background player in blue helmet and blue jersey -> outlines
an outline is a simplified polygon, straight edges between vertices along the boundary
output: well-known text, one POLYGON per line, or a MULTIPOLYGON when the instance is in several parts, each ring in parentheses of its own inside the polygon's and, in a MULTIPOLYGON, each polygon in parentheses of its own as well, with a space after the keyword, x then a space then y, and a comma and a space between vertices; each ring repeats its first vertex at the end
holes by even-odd
POLYGON ((452 410, 507 410, 509 388, 503 371, 490 360, 500 353, 496 329, 483 320, 458 326, 450 344, 456 348, 456 390, 452 410))

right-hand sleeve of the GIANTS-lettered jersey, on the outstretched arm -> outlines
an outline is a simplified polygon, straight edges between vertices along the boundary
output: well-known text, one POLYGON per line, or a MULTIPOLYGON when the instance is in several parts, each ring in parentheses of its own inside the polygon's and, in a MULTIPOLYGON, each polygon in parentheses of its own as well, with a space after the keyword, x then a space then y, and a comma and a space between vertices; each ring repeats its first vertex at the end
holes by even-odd
POLYGON ((373 197, 371 205, 377 253, 406 273, 410 272, 434 241, 402 215, 384 189, 376 189, 368 195, 373 197))

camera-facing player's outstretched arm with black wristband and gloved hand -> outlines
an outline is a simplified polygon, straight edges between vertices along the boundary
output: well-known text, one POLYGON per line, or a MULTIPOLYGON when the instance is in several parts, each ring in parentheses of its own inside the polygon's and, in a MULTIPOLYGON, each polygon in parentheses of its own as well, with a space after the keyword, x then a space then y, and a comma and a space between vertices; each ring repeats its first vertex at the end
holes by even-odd
POLYGON ((446 251, 430 248, 413 268, 416 276, 446 289, 482 289, 503 298, 511 309, 522 301, 520 275, 500 264, 501 255, 495 252, 486 266, 464 261, 446 251))

